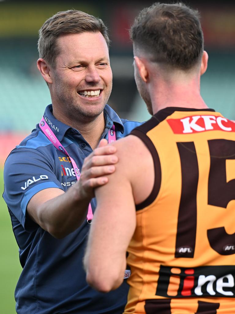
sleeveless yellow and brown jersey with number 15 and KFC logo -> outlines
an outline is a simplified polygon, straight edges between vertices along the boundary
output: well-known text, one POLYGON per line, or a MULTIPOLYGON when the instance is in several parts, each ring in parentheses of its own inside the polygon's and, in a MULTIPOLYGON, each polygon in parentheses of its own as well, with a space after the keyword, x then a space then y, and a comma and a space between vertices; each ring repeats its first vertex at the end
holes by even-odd
POLYGON ((235 123, 168 107, 132 134, 155 182, 136 206, 124 313, 235 313, 235 123))

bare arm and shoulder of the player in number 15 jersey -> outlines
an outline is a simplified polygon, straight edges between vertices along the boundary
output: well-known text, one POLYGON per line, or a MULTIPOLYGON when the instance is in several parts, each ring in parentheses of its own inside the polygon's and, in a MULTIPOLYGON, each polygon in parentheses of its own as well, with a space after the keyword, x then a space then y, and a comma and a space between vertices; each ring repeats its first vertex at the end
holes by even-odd
POLYGON ((112 145, 117 148, 117 171, 108 176, 105 187, 95 189, 97 208, 84 258, 87 282, 102 292, 123 282, 126 251, 136 227, 135 204, 148 197, 154 181, 150 171, 144 173, 143 157, 149 155, 150 164, 153 160, 140 139, 130 135, 112 145), (142 191, 136 185, 140 180, 142 191))

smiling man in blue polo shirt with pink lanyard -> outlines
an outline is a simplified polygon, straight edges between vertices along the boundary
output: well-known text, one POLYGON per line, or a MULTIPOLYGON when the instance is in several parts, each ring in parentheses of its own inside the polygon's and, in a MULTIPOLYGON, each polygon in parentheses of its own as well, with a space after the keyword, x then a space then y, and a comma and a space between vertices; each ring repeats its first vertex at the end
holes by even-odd
POLYGON ((52 104, 4 169, 3 197, 23 267, 15 290, 18 314, 123 312, 127 283, 99 293, 86 283, 82 266, 96 207, 93 189, 107 183, 118 161, 107 139, 140 124, 106 105, 112 89, 108 47, 102 20, 77 10, 55 14, 39 31, 37 65, 52 104))

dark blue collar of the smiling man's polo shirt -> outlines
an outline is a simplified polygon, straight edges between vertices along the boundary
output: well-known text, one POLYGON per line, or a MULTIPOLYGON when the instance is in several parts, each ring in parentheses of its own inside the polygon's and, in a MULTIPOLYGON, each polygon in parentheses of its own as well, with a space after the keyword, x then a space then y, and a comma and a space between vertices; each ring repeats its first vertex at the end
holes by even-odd
MULTIPOLYGON (((53 110, 52 110, 52 105, 48 105, 45 109, 44 112, 44 119, 47 122, 48 126, 50 127, 50 129, 53 131, 53 133, 55 134, 55 136, 58 138, 58 140, 61 142, 62 139, 65 136, 65 133, 68 131, 68 129, 70 129, 71 127, 68 126, 67 124, 60 122, 59 120, 57 120, 54 116, 53 116, 53 110)), ((117 115, 117 113, 108 105, 105 106, 104 108, 104 117, 105 117, 105 122, 106 122, 106 127, 108 129, 110 129, 113 125, 113 123, 115 124, 115 127, 118 128, 118 130, 121 133, 124 133, 124 126, 123 123, 121 121, 121 119, 119 118, 119 116, 117 115)))

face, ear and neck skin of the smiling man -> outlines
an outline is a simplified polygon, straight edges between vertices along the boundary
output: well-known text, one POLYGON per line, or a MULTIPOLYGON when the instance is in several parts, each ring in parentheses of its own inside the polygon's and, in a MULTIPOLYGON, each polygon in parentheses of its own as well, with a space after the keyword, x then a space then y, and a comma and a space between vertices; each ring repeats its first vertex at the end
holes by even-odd
POLYGON ((53 116, 78 129, 94 149, 105 128, 103 110, 112 90, 104 36, 98 31, 60 35, 55 68, 45 61, 47 56, 40 51, 40 43, 39 39, 43 58, 39 58, 38 68, 50 84, 53 116))

